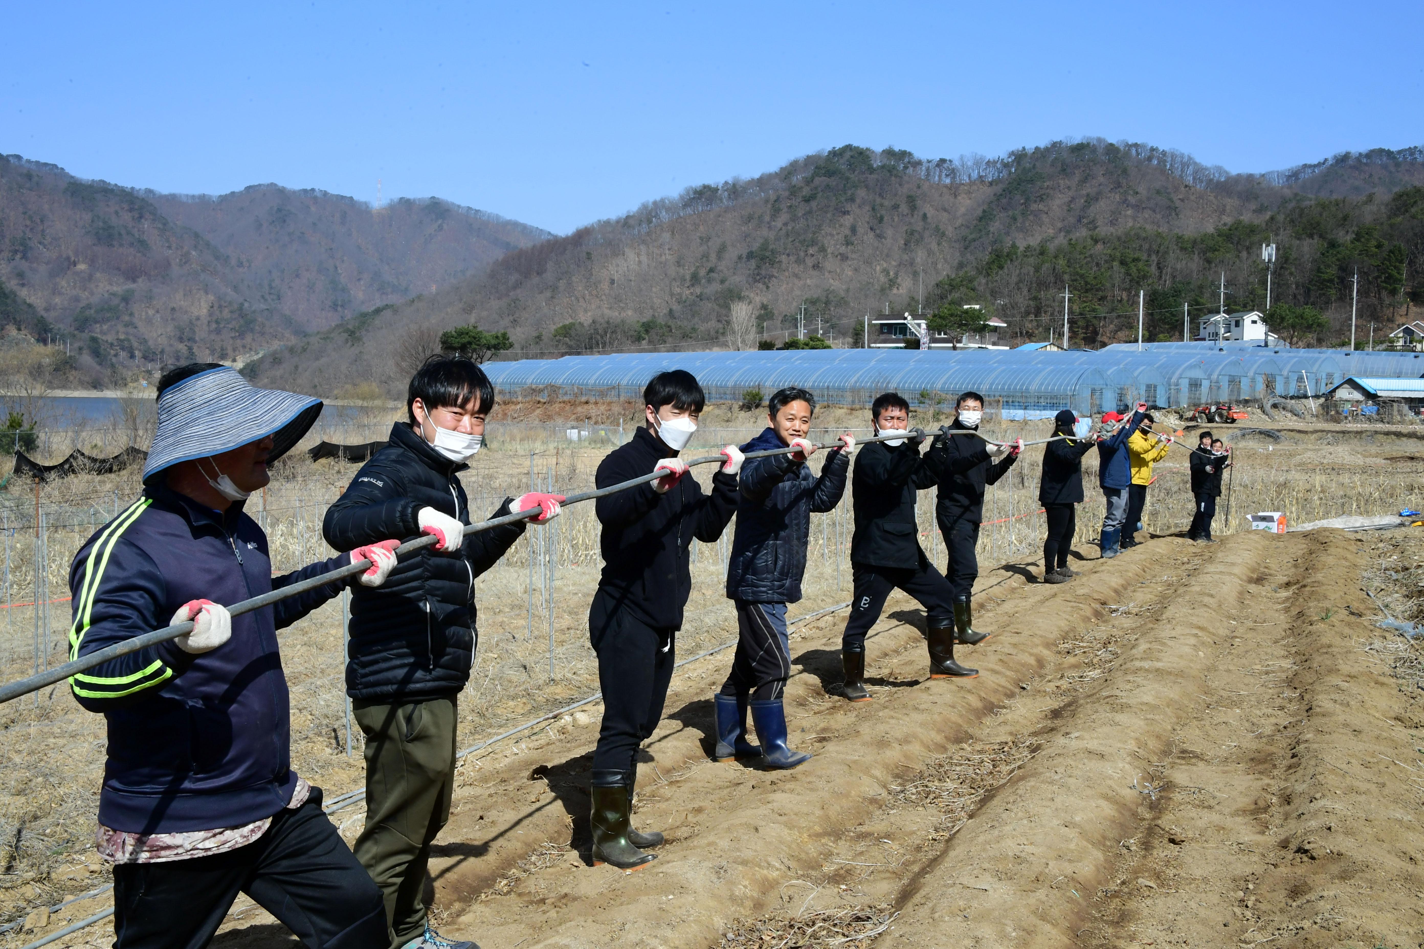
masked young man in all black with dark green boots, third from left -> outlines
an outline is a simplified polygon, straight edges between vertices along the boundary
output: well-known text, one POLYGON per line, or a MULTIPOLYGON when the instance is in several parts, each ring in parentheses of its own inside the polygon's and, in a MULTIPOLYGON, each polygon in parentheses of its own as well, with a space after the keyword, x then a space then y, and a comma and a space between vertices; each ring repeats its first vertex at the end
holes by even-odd
POLYGON ((685 477, 678 458, 696 431, 706 397, 692 373, 658 373, 644 390, 646 428, 598 465, 594 484, 607 488, 665 472, 656 481, 597 501, 604 571, 588 609, 588 637, 598 654, 604 720, 594 748, 594 864, 634 869, 654 859, 662 834, 629 825, 638 780, 637 754, 662 719, 676 662, 674 643, 692 592, 692 541, 711 544, 736 514, 742 452, 726 445, 726 462, 712 475, 712 494, 685 477))

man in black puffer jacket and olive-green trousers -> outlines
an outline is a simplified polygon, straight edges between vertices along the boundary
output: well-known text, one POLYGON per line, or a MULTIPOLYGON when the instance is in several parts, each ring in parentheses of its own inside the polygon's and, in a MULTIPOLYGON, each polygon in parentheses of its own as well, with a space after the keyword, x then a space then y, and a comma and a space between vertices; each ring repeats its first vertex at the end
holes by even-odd
MULTIPOLYGON (((366 827, 356 857, 384 896, 394 949, 468 949, 431 926, 423 898, 430 844, 450 817, 459 696, 478 643, 474 578, 524 534, 524 521, 464 535, 470 505, 460 484, 484 441, 494 387, 473 360, 431 356, 410 380, 409 421, 362 465, 326 511, 322 532, 337 551, 377 536, 431 534, 382 589, 352 598, 346 694, 366 736, 366 827)), ((491 516, 564 498, 525 494, 491 516)))

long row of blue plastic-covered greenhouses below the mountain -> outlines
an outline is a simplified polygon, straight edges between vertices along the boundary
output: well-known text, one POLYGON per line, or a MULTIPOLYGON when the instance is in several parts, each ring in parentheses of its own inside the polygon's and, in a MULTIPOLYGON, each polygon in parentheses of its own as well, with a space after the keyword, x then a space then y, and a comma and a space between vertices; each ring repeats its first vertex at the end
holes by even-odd
MULTIPOLYGON (((1109 346, 1105 350, 893 350, 832 349, 719 353, 619 353, 488 363, 506 397, 639 398, 668 369, 698 377, 713 401, 762 397, 786 386, 809 388, 823 403, 869 404, 899 391, 914 405, 977 391, 998 400, 1005 418, 1047 418, 1062 408, 1098 413, 1145 401, 1156 407, 1235 403, 1263 396, 1317 396, 1346 376, 1396 376, 1400 370, 1343 350, 1225 349, 1193 344, 1109 346), (1349 371, 1347 371, 1349 369, 1349 371)), ((1410 376, 1424 376, 1424 360, 1410 376)))

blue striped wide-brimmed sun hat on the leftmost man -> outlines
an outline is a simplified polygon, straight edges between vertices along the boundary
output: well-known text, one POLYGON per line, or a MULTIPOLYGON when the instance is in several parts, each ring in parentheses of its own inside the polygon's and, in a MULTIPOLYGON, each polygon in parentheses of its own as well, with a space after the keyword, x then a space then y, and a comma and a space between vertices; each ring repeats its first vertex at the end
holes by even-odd
POLYGON ((182 461, 208 458, 273 437, 268 461, 302 440, 322 401, 310 396, 258 388, 228 366, 209 369, 164 390, 158 433, 144 464, 144 482, 182 461))

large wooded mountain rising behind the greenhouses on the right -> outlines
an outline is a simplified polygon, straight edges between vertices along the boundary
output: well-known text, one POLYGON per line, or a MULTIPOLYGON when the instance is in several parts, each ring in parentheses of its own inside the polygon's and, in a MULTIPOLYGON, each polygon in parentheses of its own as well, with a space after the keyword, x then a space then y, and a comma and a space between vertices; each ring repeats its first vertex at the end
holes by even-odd
POLYGON ((1232 307, 1265 306, 1267 242, 1282 249, 1273 302, 1339 316, 1349 267, 1361 266, 1363 304, 1383 320, 1411 304, 1417 290, 1405 292, 1403 273, 1424 262, 1413 203, 1424 191, 1407 184, 1424 168, 1420 151, 1388 155, 1233 175, 1102 139, 958 161, 846 145, 513 250, 480 275, 293 341, 245 371, 318 394, 356 376, 396 394, 413 354, 433 349, 440 330, 471 323, 508 332, 508 357, 721 347, 736 300, 750 302, 758 329, 778 339, 803 306, 807 332, 853 341, 867 313, 916 312, 923 297, 926 312, 987 306, 1012 341, 1025 341, 1061 324, 1065 285, 1075 340, 1135 333, 1139 289, 1156 339, 1180 333, 1183 304, 1215 312, 1222 273, 1232 307), (1367 184, 1378 188, 1336 196, 1367 184))

